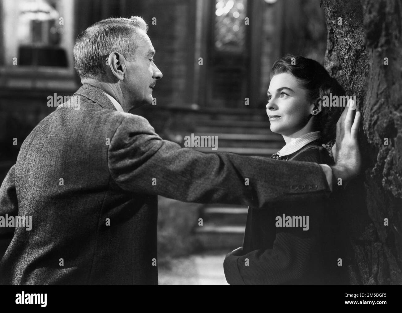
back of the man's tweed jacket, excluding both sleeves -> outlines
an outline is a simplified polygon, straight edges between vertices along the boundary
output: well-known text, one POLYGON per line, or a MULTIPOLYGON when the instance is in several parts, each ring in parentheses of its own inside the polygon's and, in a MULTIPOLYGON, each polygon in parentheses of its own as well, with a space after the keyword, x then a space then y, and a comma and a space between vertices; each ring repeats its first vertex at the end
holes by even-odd
POLYGON ((0 279, 157 284, 157 197, 122 190, 108 166, 107 143, 129 114, 83 97, 80 102, 79 110, 58 108, 21 146, 15 165, 18 215, 32 216, 32 229, 15 229, 0 279))

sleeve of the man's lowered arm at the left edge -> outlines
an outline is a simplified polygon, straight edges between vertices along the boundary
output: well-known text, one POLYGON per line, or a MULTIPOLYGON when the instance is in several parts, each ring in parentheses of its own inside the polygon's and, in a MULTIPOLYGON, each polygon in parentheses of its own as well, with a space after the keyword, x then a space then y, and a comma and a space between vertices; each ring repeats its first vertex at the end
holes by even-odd
MULTIPOLYGON (((0 216, 6 214, 16 216, 18 213, 17 194, 14 180, 15 165, 13 165, 4 178, 0 187, 0 216)), ((4 256, 14 234, 14 227, 0 227, 0 260, 4 256)))

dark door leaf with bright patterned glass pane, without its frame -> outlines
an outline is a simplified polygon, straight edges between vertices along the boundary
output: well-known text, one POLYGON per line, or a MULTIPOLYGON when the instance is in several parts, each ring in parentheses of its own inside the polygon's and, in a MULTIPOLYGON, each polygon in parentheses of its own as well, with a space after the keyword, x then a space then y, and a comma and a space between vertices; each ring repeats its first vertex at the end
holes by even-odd
POLYGON ((208 102, 244 106, 250 86, 250 0, 213 0, 209 29, 208 102))

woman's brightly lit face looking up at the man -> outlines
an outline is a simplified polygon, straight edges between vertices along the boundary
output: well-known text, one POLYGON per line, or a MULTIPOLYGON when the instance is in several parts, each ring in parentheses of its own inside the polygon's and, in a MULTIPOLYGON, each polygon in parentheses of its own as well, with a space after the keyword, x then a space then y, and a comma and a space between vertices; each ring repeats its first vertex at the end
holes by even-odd
POLYGON ((308 102, 307 90, 299 86, 293 75, 281 73, 273 76, 267 94, 271 131, 293 137, 306 127, 314 104, 308 102))

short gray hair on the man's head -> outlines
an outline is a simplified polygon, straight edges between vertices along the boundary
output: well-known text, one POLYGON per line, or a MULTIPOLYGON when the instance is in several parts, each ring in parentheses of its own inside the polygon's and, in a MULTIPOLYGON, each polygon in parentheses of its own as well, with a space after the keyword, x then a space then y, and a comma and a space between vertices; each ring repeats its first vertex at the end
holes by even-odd
POLYGON ((98 78, 105 74, 104 65, 109 54, 117 51, 133 61, 138 43, 134 35, 138 29, 148 31, 145 20, 107 18, 96 22, 78 35, 74 45, 74 68, 80 78, 98 78))

